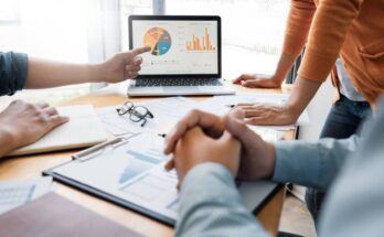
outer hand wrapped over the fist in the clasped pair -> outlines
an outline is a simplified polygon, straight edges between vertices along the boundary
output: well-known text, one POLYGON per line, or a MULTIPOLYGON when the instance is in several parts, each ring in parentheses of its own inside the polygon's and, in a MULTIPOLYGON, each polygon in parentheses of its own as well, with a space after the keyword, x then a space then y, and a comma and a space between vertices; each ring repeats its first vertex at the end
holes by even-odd
MULTIPOLYGON (((223 133, 230 132, 241 142, 242 147, 237 177, 243 180, 269 177, 273 175, 275 169, 274 146, 265 142, 259 136, 254 133, 241 119, 241 112, 233 112, 225 117, 217 117, 195 110, 184 117, 167 136, 164 153, 175 154, 178 142, 183 139, 183 136, 188 133, 189 130, 195 127, 200 127, 205 136, 212 139, 221 138, 223 133)), ((191 159, 193 159, 193 155, 196 153, 205 153, 205 155, 210 157, 216 155, 211 152, 209 147, 205 149, 206 151, 204 152, 198 150, 199 152, 191 153, 191 159)), ((192 151, 189 150, 188 152, 192 151)), ((178 169, 177 162, 179 162, 179 165, 183 165, 184 161, 175 155, 175 158, 171 159, 166 164, 166 169, 178 169)), ((185 175, 184 171, 183 174, 185 175)))

